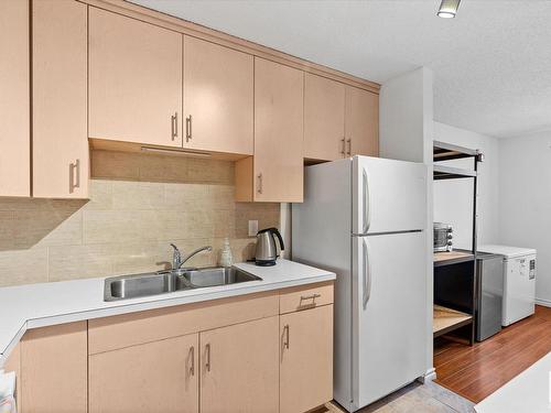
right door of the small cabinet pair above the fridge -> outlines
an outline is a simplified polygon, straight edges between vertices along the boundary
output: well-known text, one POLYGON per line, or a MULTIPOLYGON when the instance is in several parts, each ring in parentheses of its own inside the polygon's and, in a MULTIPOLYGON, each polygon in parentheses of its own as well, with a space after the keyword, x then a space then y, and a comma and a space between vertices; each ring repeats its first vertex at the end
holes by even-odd
POLYGON ((346 152, 379 156, 379 95, 346 86, 346 152))

